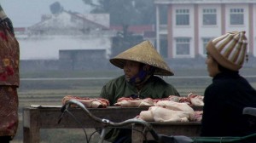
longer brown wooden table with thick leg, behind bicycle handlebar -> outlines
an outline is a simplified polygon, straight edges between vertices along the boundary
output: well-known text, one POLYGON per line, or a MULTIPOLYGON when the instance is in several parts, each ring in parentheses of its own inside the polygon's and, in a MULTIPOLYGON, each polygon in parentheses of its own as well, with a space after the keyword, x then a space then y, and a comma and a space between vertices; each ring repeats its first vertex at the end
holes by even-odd
MULTIPOLYGON (((96 117, 106 118, 113 122, 121 122, 129 118, 136 117, 141 111, 148 108, 105 108, 89 109, 96 117)), ((81 109, 69 110, 83 124, 83 128, 94 129, 102 127, 102 123, 97 123, 90 119, 81 109)), ((79 129, 72 116, 64 114, 61 123, 58 124, 61 115, 60 106, 38 106, 25 107, 23 109, 23 142, 38 143, 40 141, 40 129, 79 129)))

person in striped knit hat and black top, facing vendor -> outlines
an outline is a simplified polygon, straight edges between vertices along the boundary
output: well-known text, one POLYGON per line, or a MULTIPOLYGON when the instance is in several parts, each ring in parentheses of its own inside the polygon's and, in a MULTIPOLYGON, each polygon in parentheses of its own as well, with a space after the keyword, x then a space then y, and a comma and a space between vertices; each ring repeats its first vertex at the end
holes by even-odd
MULTIPOLYGON (((227 32, 207 43, 207 71, 212 83, 204 94, 201 136, 245 136, 256 133, 255 123, 242 115, 256 107, 256 90, 239 74, 247 60, 245 31, 227 32)), ((250 139, 256 142, 255 137, 250 139)))

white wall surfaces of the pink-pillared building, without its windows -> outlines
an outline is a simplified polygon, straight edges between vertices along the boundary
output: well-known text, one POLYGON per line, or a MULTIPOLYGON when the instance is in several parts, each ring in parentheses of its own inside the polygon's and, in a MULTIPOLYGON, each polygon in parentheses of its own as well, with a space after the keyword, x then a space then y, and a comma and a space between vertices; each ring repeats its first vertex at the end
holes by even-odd
MULTIPOLYGON (((200 1, 186 1, 186 0, 166 0, 166 3, 162 3, 163 1, 154 0, 155 3, 159 4, 172 4, 172 34, 170 39, 172 40, 172 45, 169 45, 169 50, 172 50, 172 58, 194 58, 195 54, 203 54, 203 38, 209 37, 219 37, 224 32, 228 31, 247 31, 247 38, 248 40, 248 49, 250 49, 250 54, 256 56, 256 0, 236 0, 229 1, 229 0, 212 0, 211 2, 208 0, 200 1), (195 2, 195 3, 189 3, 195 2), (198 5, 198 15, 195 14, 195 4, 198 5), (249 17, 249 6, 253 5, 253 18, 249 17), (176 9, 189 9, 189 26, 176 26, 176 9), (202 24, 202 9, 216 9, 217 12, 217 25, 216 26, 203 26, 202 24), (244 24, 243 25, 230 25, 230 9, 243 9, 244 15, 244 24), (224 10, 224 11, 222 11, 224 10), (225 14, 225 15, 222 15, 225 14), (195 31, 194 24, 196 23, 194 20, 197 20, 198 17, 198 31, 195 31), (250 20, 253 19, 253 29, 250 28, 250 20), (224 21, 222 21, 224 20, 224 21), (224 24, 224 26, 223 26, 224 24), (249 32, 250 31, 250 32, 249 32), (198 37, 195 37, 198 36, 198 37), (176 38, 177 37, 190 37, 190 54, 189 55, 176 55, 176 38), (195 40, 198 38, 198 47, 195 48, 195 40), (198 49, 198 53, 195 49, 198 49)), ((252 15, 252 14, 250 14, 252 15)), ((166 30, 167 31, 167 30, 166 30)), ((158 33, 159 34, 159 33, 158 33)), ((171 57, 170 57, 171 58, 171 57)))

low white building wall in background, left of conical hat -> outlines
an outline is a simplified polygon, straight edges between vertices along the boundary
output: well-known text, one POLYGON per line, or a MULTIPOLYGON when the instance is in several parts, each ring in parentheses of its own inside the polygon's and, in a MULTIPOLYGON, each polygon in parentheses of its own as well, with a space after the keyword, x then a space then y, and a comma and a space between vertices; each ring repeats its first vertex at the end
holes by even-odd
POLYGON ((58 60, 60 50, 106 49, 106 58, 111 54, 109 37, 48 36, 18 39, 20 60, 58 60))

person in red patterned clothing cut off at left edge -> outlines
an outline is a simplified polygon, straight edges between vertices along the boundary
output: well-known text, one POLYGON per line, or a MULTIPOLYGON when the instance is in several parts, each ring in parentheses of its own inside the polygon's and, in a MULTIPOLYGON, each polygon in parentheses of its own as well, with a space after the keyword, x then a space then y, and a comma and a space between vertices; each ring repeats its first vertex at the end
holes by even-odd
POLYGON ((11 20, 0 5, 0 142, 9 143, 18 129, 20 47, 11 20))

